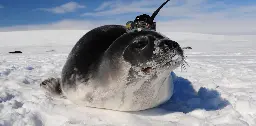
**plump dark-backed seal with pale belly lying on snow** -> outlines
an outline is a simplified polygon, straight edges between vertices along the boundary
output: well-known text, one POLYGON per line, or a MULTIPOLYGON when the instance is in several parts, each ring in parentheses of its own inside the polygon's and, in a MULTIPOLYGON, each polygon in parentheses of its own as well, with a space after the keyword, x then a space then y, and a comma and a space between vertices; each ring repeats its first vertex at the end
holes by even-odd
POLYGON ((183 64, 180 45, 156 31, 126 32, 105 25, 73 47, 61 78, 40 86, 75 104, 117 111, 156 107, 173 94, 170 72, 183 64))

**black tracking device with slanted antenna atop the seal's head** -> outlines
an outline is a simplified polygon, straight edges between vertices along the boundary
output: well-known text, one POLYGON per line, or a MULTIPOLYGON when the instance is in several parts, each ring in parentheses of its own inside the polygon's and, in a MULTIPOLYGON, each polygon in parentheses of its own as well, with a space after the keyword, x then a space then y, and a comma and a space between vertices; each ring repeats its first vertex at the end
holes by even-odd
POLYGON ((164 2, 151 16, 147 14, 139 15, 135 18, 134 21, 128 21, 126 23, 126 28, 129 30, 142 30, 142 29, 148 29, 148 30, 154 30, 156 31, 156 22, 154 22, 154 19, 158 12, 161 10, 161 8, 170 0, 167 0, 164 2))

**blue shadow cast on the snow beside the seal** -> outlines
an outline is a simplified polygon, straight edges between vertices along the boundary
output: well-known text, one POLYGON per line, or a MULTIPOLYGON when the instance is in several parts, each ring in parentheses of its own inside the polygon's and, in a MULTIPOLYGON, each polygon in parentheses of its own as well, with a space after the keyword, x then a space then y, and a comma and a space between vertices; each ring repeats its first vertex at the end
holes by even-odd
POLYGON ((189 113, 197 109, 213 111, 220 110, 230 104, 227 100, 221 98, 217 90, 201 87, 197 92, 189 80, 177 77, 174 72, 171 73, 171 77, 174 78, 174 94, 170 100, 154 109, 135 112, 134 114, 189 113))

